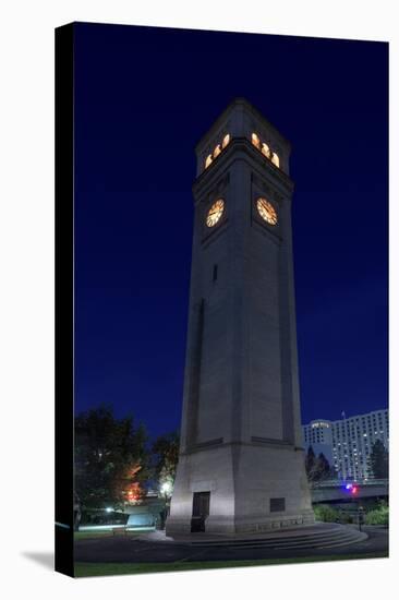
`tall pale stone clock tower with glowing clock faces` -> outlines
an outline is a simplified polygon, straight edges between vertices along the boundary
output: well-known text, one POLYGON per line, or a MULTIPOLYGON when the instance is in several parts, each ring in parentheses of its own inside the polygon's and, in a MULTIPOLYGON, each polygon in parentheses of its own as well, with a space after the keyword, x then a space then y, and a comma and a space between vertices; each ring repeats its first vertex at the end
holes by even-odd
POLYGON ((301 441, 289 154, 289 142, 242 98, 196 147, 169 536, 314 521, 301 441))

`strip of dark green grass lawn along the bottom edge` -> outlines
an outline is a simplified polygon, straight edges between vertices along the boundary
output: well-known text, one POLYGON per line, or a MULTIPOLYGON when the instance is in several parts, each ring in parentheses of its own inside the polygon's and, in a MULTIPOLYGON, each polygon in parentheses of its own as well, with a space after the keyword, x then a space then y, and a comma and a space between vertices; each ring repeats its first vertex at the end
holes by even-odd
POLYGON ((385 559, 388 552, 370 554, 342 554, 331 556, 311 556, 301 559, 263 559, 259 561, 206 561, 174 563, 75 563, 75 577, 100 577, 102 575, 134 575, 144 573, 194 571, 206 568, 231 568, 239 566, 283 565, 295 563, 318 563, 323 561, 350 561, 359 559, 385 559))

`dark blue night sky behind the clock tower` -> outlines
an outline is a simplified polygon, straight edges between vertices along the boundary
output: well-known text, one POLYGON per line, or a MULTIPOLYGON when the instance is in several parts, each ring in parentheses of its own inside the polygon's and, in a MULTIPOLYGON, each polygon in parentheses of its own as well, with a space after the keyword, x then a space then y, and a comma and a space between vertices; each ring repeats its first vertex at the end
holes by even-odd
POLYGON ((292 143, 302 420, 386 407, 388 46, 75 32, 76 411, 179 427, 194 146, 235 96, 292 143))

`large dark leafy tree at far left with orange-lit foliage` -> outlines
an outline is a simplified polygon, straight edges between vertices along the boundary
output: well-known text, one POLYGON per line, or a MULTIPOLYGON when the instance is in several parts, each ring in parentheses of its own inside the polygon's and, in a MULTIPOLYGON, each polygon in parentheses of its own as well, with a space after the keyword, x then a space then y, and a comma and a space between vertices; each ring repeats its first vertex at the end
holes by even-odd
POLYGON ((121 508, 145 494, 146 433, 133 417, 116 419, 112 408, 75 418, 75 491, 84 508, 121 508))

